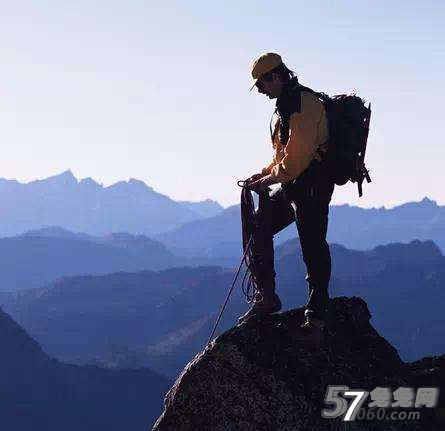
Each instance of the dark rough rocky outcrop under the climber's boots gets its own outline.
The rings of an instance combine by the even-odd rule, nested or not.
[[[378,386],[445,388],[445,356],[404,363],[370,317],[360,298],[333,299],[318,348],[298,344],[290,335],[289,328],[303,319],[302,308],[226,331],[183,370],[153,430],[443,430],[439,409],[420,409],[420,420],[410,421],[321,417],[323,408],[331,408],[324,403],[328,385],[368,391]],[[444,407],[443,394],[439,407]]]

